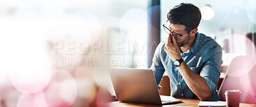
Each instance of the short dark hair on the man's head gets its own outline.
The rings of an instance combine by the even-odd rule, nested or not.
[[[167,14],[170,23],[185,25],[188,32],[198,27],[201,17],[200,9],[191,3],[180,3]]]

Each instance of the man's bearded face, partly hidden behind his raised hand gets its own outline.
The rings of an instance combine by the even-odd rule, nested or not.
[[[185,28],[186,28],[185,25],[170,24],[170,30],[172,32],[175,32],[175,33],[181,34],[181,35],[184,34],[179,39],[176,39],[177,40],[177,45],[179,47],[186,45],[188,43],[189,39],[190,39],[190,35],[189,35],[189,33],[187,33],[187,31],[185,31]],[[172,36],[172,38],[174,38],[174,37]]]

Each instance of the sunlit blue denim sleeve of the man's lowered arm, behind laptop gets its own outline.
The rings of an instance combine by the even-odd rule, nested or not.
[[[161,43],[159,43],[159,45],[156,48],[154,57],[152,59],[152,65],[150,67],[150,69],[152,69],[152,71],[154,72],[154,76],[156,79],[158,89],[161,89],[161,87],[159,86],[159,83],[161,82],[161,80],[163,78],[164,71],[165,71],[164,66],[161,62],[160,56],[161,56]]]

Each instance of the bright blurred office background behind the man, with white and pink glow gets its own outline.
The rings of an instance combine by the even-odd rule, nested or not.
[[[255,56],[254,0],[0,0],[1,106],[108,102],[108,68],[148,68],[166,14],[187,2],[202,9],[198,32],[222,46],[223,64]]]

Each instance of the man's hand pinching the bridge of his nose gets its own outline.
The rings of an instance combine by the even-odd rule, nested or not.
[[[176,38],[173,38],[171,34],[168,36],[168,40],[165,43],[164,51],[171,57],[172,61],[176,59],[181,59],[180,49],[177,45]]]

